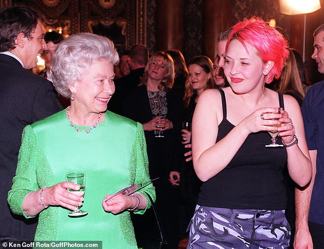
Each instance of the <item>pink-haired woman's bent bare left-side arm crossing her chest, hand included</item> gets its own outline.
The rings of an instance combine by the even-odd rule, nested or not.
[[[267,125],[276,122],[260,118],[262,113],[274,112],[273,108],[263,107],[257,109],[216,143],[218,119],[221,119],[219,113],[222,113],[220,99],[221,96],[218,90],[205,90],[199,97],[193,117],[193,163],[197,176],[202,181],[210,179],[223,170],[233,159],[250,133],[260,130],[273,130],[273,127]],[[273,118],[272,116],[270,118]],[[224,154],[226,156],[223,156]]]

